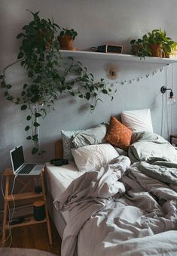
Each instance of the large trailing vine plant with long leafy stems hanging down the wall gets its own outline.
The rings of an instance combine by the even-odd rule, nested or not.
[[[57,31],[60,26],[53,20],[41,19],[39,11],[32,14],[32,21],[23,26],[22,32],[17,35],[20,39],[20,51],[17,60],[6,66],[0,76],[4,95],[12,103],[20,104],[22,111],[27,110],[25,131],[27,140],[32,140],[32,154],[41,155],[38,128],[41,125],[38,119],[43,118],[53,109],[54,101],[60,94],[70,94],[85,100],[90,100],[90,109],[93,111],[100,93],[107,94],[113,100],[111,88],[108,88],[104,79],[94,81],[92,73],[87,72],[81,62],[72,57],[66,61],[60,53],[60,44],[57,40]],[[26,82],[18,97],[11,94],[13,85],[7,82],[7,69],[20,63],[26,69]],[[73,79],[69,75],[77,74]]]

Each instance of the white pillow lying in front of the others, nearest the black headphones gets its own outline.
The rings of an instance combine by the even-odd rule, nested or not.
[[[72,156],[79,171],[98,171],[102,165],[107,164],[119,154],[109,143],[102,143],[72,149]]]

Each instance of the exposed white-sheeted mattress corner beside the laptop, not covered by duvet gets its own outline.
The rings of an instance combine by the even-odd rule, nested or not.
[[[53,198],[53,201],[63,193],[72,180],[81,176],[83,172],[78,171],[75,162],[70,161],[68,165],[54,166],[46,164],[47,168],[47,190]],[[69,220],[69,211],[61,212],[66,223]]]

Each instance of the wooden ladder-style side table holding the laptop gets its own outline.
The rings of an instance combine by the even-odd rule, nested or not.
[[[52,245],[50,221],[49,221],[49,214],[47,211],[47,199],[46,199],[45,186],[44,186],[44,170],[41,170],[41,174],[40,174],[41,188],[42,188],[41,193],[29,192],[29,193],[17,193],[17,194],[11,195],[9,194],[9,182],[10,182],[10,179],[14,177],[12,169],[6,168],[5,173],[3,175],[5,176],[5,208],[4,208],[4,216],[3,216],[3,224],[2,224],[2,246],[5,245],[6,230],[8,230],[9,228],[11,229],[14,227],[29,226],[29,225],[41,224],[41,223],[47,224],[48,238],[49,238],[50,245]],[[30,216],[30,220],[28,222],[9,225],[7,220],[8,220],[8,208],[10,208],[10,205],[9,205],[10,202],[18,201],[18,200],[26,200],[26,199],[32,199],[32,200],[34,199],[34,201],[38,199],[44,200],[46,217],[42,221],[35,221],[32,215]]]

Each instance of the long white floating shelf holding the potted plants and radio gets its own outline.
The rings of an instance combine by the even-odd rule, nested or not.
[[[60,53],[64,57],[75,57],[79,59],[93,59],[93,60],[117,60],[117,61],[133,61],[140,63],[158,63],[158,64],[170,64],[177,62],[177,59],[160,58],[160,57],[140,57],[131,54],[110,54],[95,51],[69,51],[60,50]]]

